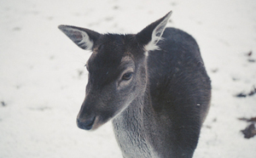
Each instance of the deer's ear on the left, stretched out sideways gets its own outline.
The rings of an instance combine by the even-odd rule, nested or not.
[[[93,44],[101,36],[101,34],[96,31],[90,31],[89,29],[71,25],[59,25],[58,28],[74,43],[76,43],[79,48],[83,48],[85,50],[91,50]]]

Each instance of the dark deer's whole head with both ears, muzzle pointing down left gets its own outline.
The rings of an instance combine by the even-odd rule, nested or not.
[[[79,48],[92,51],[84,103],[77,123],[94,130],[125,110],[147,87],[147,54],[157,49],[172,12],[137,34],[101,34],[96,31],[60,25]]]

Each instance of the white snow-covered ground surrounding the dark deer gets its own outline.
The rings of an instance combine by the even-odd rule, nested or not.
[[[171,9],[168,25],[195,37],[212,78],[195,157],[256,157],[256,137],[243,138],[247,123],[237,120],[256,116],[256,94],[235,97],[256,87],[255,0],[8,0],[0,1],[0,158],[121,157],[110,123],[94,133],[76,127],[90,53],[57,25],[135,33]]]

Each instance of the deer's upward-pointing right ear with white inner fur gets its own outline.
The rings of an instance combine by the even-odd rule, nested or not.
[[[160,20],[154,21],[154,23],[148,25],[143,31],[137,33],[137,42],[143,45],[146,51],[157,49],[156,43],[160,41],[163,32],[166,29],[166,24],[170,19],[172,11],[166,14]]]

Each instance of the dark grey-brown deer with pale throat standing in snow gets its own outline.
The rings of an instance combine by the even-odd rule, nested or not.
[[[137,34],[58,26],[91,52],[78,127],[94,131],[112,121],[125,158],[193,157],[210,108],[200,48],[185,31],[166,27],[171,14]]]

